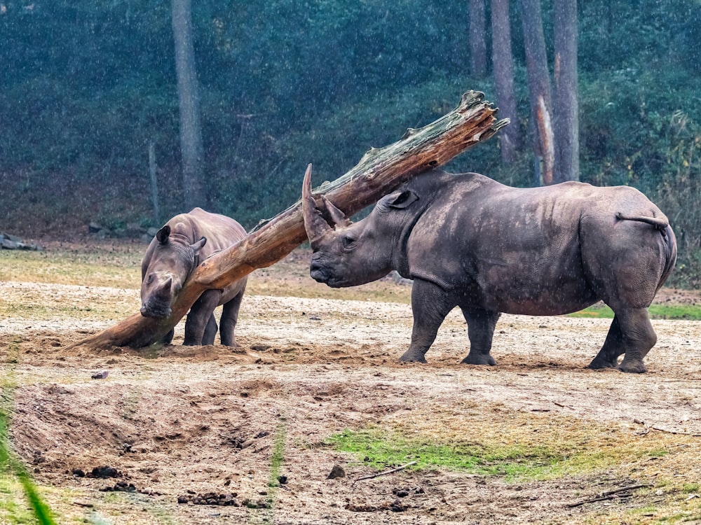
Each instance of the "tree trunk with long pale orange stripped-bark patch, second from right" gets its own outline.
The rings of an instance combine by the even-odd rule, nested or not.
[[[531,102],[533,151],[543,162],[542,183],[551,184],[555,162],[552,91],[550,75],[547,71],[543,17],[540,10],[540,0],[520,0],[520,3]]]

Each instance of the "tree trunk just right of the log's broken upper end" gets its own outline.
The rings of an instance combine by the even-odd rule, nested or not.
[[[491,57],[499,115],[511,120],[501,133],[501,160],[509,164],[521,147],[521,130],[514,93],[514,58],[511,51],[509,0],[491,0]]]

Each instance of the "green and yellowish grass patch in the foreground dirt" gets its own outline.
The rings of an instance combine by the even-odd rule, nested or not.
[[[494,416],[494,414],[492,414]],[[557,479],[660,458],[667,449],[596,423],[534,414],[428,414],[346,429],[327,444],[385,470],[453,470],[507,481]]]

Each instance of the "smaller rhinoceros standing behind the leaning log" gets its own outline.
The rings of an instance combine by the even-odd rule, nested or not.
[[[170,305],[200,262],[229,248],[245,235],[243,227],[233,219],[200,208],[170,219],[158,230],[142,260],[142,316],[169,316]],[[200,295],[187,314],[184,344],[214,344],[217,321],[213,312],[223,304],[219,335],[222,344],[237,346],[233,330],[245,288],[244,278],[223,290],[206,290]],[[170,330],[163,342],[170,343],[172,337]]]

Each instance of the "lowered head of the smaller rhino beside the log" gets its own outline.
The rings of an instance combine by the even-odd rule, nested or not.
[[[154,246],[148,264],[142,265],[141,314],[144,317],[170,315],[170,305],[195,268],[196,256],[207,242],[202,237],[190,244],[183,235],[171,237],[170,234],[169,225],[158,230],[158,244]]]

